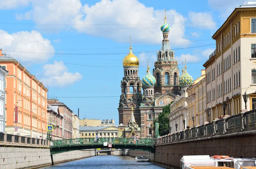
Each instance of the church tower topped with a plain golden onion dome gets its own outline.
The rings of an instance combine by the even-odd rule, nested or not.
[[[132,53],[123,59],[124,77],[121,80],[121,95],[119,100],[119,124],[128,125],[134,113],[134,119],[140,125],[140,103],[142,102],[142,83],[139,75],[139,59]],[[134,110],[134,112],[132,111]],[[133,112],[133,113],[132,113]]]

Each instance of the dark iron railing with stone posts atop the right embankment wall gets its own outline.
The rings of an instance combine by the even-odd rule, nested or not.
[[[174,143],[177,141],[193,140],[248,130],[256,130],[256,109],[232,116],[225,115],[222,119],[215,119],[211,123],[205,122],[205,124],[201,126],[195,126],[191,129],[184,129],[162,136],[157,138],[155,143],[156,145]],[[167,136],[169,139],[166,139]]]

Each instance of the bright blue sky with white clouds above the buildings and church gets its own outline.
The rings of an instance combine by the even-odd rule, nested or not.
[[[48,98],[65,103],[82,118],[113,119],[129,52],[147,60],[152,73],[171,26],[175,59],[194,80],[215,50],[212,35],[245,0],[0,0],[0,48],[49,89]],[[251,0],[250,0],[251,1]]]

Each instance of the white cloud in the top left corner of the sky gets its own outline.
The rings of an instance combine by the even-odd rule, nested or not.
[[[12,9],[27,6],[31,0],[1,0],[0,9]]]

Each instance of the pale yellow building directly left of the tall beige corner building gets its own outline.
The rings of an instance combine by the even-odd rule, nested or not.
[[[194,83],[186,90],[188,97],[188,126],[192,127],[194,124],[202,125],[207,121],[206,110],[206,80],[205,70],[201,70],[201,76],[194,80]],[[192,117],[195,117],[193,123]]]

